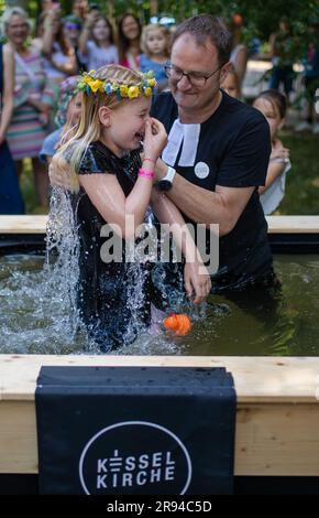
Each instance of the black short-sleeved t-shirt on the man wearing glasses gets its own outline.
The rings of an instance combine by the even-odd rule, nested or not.
[[[270,128],[264,116],[222,91],[220,106],[198,128],[198,141],[193,142],[195,149],[190,153],[185,149],[187,142],[178,142],[173,130],[169,136],[173,125],[178,125],[175,122],[177,105],[172,94],[155,98],[152,116],[164,123],[168,145],[169,139],[177,141],[175,144],[179,149],[175,157],[173,152],[169,165],[186,180],[209,191],[215,191],[216,185],[256,187],[234,228],[220,238],[219,270],[212,278],[215,291],[241,288],[271,273],[267,224],[257,194],[257,187],[265,184],[271,154]],[[174,142],[170,143],[174,147]],[[184,217],[186,222],[195,223],[185,214]]]

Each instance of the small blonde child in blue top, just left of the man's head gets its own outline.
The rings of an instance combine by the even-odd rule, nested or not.
[[[153,71],[157,82],[157,90],[167,86],[164,65],[169,57],[168,30],[163,25],[146,25],[142,32],[141,72]]]

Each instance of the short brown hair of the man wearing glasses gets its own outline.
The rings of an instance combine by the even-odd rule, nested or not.
[[[199,14],[185,20],[174,32],[172,46],[185,33],[191,34],[198,45],[205,45],[207,39],[209,39],[218,51],[220,66],[229,61],[232,36],[222,18]]]

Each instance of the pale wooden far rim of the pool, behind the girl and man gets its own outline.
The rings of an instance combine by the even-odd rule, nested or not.
[[[270,234],[319,234],[319,216],[267,216]],[[0,216],[1,234],[45,234],[47,216]]]

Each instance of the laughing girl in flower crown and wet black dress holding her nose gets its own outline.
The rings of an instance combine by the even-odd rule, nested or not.
[[[188,295],[195,292],[195,302],[201,302],[210,291],[209,274],[190,234],[182,233],[180,213],[153,190],[153,170],[166,143],[163,125],[148,116],[154,86],[150,75],[119,65],[84,75],[78,130],[53,159],[53,169],[65,169],[77,191],[73,206],[80,240],[78,305],[102,350],[132,342],[141,326],[150,325],[152,293],[150,262],[129,263],[122,250],[117,261],[105,253],[106,223],[132,240],[152,198],[161,222],[177,224],[172,233],[186,258]]]

